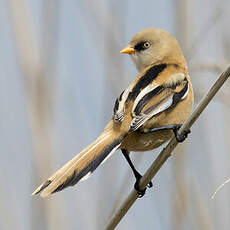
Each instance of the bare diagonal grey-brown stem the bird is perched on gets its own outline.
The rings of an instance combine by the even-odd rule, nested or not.
[[[182,127],[179,130],[179,135],[190,129],[190,127],[198,119],[200,114],[203,112],[203,110],[206,108],[209,102],[213,99],[213,97],[216,95],[218,90],[221,88],[221,86],[224,84],[224,82],[228,79],[229,76],[230,76],[230,66],[226,69],[225,72],[223,72],[219,76],[215,84],[204,96],[204,98],[201,100],[200,104],[193,111],[191,116],[182,125]],[[171,156],[171,153],[175,149],[177,144],[178,142],[176,141],[176,138],[173,137],[171,141],[168,143],[168,145],[160,152],[156,160],[152,163],[152,165],[148,168],[148,170],[142,177],[140,181],[141,189],[144,189],[149,183],[149,181],[153,179],[153,177],[160,170],[160,168],[163,166],[166,160]],[[133,203],[136,201],[137,198],[138,198],[138,194],[136,190],[133,189],[129,194],[129,196],[124,201],[124,203],[121,205],[120,209],[118,209],[118,211],[114,214],[113,218],[110,220],[109,224],[106,227],[106,230],[112,230],[118,225],[118,223],[125,216],[125,214],[131,208],[131,206],[133,205]]]

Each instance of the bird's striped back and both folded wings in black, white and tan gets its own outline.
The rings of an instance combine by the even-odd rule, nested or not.
[[[177,65],[151,66],[117,98],[113,119],[122,122],[126,105],[132,103],[130,131],[135,131],[153,116],[173,109],[188,92],[186,73]]]

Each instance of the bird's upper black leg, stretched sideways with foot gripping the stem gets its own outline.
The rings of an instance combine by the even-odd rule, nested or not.
[[[160,131],[160,130],[173,130],[173,133],[177,139],[178,142],[183,142],[187,137],[188,134],[191,133],[190,130],[185,131],[182,134],[178,134],[178,131],[180,129],[180,127],[182,126],[182,124],[173,124],[173,125],[167,125],[167,126],[162,126],[162,127],[158,127],[158,128],[151,128],[145,131],[139,131],[141,133],[152,133],[152,132],[156,132],[156,131]]]

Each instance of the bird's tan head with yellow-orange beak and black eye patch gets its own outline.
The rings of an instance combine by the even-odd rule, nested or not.
[[[120,52],[130,54],[139,71],[158,62],[185,64],[176,39],[167,31],[158,28],[137,32],[129,45]]]

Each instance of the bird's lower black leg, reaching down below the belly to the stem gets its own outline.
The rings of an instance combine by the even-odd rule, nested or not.
[[[122,149],[121,151],[122,151],[125,159],[129,163],[129,166],[131,167],[131,169],[133,171],[133,174],[134,174],[134,176],[136,178],[136,182],[134,184],[134,188],[135,188],[135,190],[138,193],[138,197],[140,198],[140,197],[142,197],[142,196],[145,195],[145,191],[146,191],[146,188],[140,189],[140,187],[139,187],[139,182],[140,182],[140,179],[142,178],[142,175],[134,167],[134,165],[133,165],[133,163],[132,163],[132,161],[131,161],[131,159],[129,157],[129,152],[127,150],[125,150],[125,149]],[[148,187],[151,188],[152,186],[153,186],[153,183],[152,183],[152,181],[150,181],[149,184],[148,184]]]

